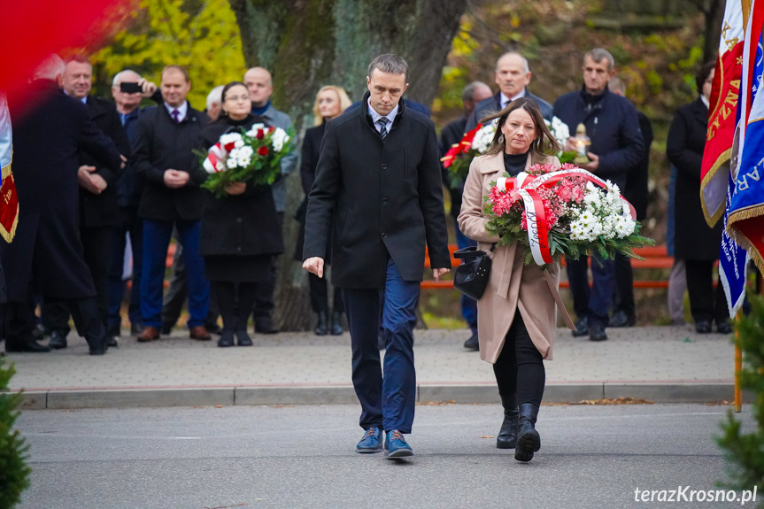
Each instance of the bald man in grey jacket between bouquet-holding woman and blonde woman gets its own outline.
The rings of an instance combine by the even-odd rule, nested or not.
[[[259,115],[272,127],[281,127],[285,131],[294,127],[292,120],[284,112],[276,110],[271,104],[271,95],[274,93],[274,83],[271,73],[264,67],[252,67],[244,73],[244,84],[250,91],[252,101],[252,114]],[[297,151],[282,158],[282,177],[291,174],[297,166]],[[283,178],[274,182],[274,203],[278,212],[280,227],[284,224],[284,211],[286,210],[287,189]],[[274,289],[276,286],[276,259],[274,257],[271,272],[267,281],[259,282],[257,299],[253,311],[255,319],[255,331],[263,334],[275,334],[278,330],[271,319],[274,310]]]

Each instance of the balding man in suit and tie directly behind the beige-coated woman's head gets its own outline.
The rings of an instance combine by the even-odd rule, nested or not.
[[[475,106],[475,110],[467,119],[465,131],[473,130],[484,117],[490,113],[500,112],[507,104],[515,99],[528,97],[538,104],[538,109],[544,119],[552,121],[552,104],[547,103],[539,96],[531,94],[528,90],[532,73],[528,66],[528,60],[517,51],[508,51],[496,61],[495,80],[498,85],[498,94],[482,100]]]

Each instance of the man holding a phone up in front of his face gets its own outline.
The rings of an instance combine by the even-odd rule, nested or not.
[[[127,91],[122,91],[123,85]],[[137,91],[140,89],[140,91]],[[132,91],[136,90],[136,91]],[[146,112],[141,108],[144,98],[151,98],[157,103],[162,102],[155,83],[143,79],[139,73],[125,69],[117,73],[112,80],[112,97],[117,105],[120,123],[125,129],[130,146],[135,146],[135,126],[138,119]],[[132,148],[131,148],[132,151]],[[112,235],[112,261],[109,266],[109,329],[112,335],[120,335],[120,305],[125,291],[122,281],[123,261],[127,235],[133,253],[133,289],[130,292],[130,305],[127,317],[130,320],[130,335],[143,332],[143,317],[141,316],[141,273],[143,272],[143,220],[138,217],[138,204],[141,201],[141,180],[135,175],[135,166],[128,162],[125,171],[117,181],[117,201],[120,205],[120,219]]]

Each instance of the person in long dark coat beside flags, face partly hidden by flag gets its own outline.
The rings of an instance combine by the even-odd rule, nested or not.
[[[722,221],[708,228],[700,206],[700,165],[706,146],[708,97],[714,81],[714,63],[700,68],[695,78],[698,99],[680,107],[668,130],[666,153],[676,167],[675,258],[683,259],[687,273],[690,309],[699,333],[729,334],[729,312],[720,282],[714,291],[714,262],[722,246]]]

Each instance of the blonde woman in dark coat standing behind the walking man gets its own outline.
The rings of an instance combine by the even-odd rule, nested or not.
[[[324,129],[328,120],[340,116],[351,105],[351,100],[341,87],[328,85],[319,90],[316,96],[316,102],[313,104],[313,114],[315,115],[316,127],[311,127],[305,131],[303,140],[303,155],[300,163],[300,177],[303,181],[303,190],[305,191],[305,201],[297,210],[297,220],[300,221],[300,233],[297,236],[297,246],[295,249],[295,259],[303,261],[303,241],[305,239],[305,212],[308,208],[308,195],[313,187],[313,180],[316,176],[316,166],[319,164],[319,150],[321,140],[324,137]],[[328,260],[331,258],[327,246]],[[316,313],[316,335],[326,335],[331,332],[332,335],[341,335],[343,333],[342,314],[343,298],[340,289],[335,288],[334,303],[332,305],[331,325],[328,324],[328,297],[327,297],[327,279],[320,278],[316,274],[308,274],[308,284],[311,292],[311,307]]]

